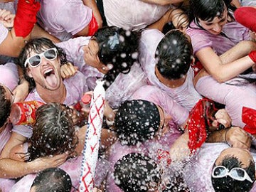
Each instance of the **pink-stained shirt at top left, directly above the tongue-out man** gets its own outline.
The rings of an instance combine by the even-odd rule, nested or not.
[[[92,19],[92,9],[81,0],[41,0],[40,4],[39,25],[61,41],[74,36]]]

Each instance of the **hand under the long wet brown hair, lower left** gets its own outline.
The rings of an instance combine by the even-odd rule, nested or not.
[[[52,157],[50,156],[40,157],[38,159],[31,161],[30,163],[33,166],[33,170],[35,172],[38,172],[50,167],[60,166],[66,161],[67,158],[68,158],[68,153],[64,153],[64,154],[58,154]]]

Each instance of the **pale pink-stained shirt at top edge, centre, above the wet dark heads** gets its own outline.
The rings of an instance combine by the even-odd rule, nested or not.
[[[108,26],[138,30],[159,20],[170,6],[140,0],[103,0],[103,7]]]

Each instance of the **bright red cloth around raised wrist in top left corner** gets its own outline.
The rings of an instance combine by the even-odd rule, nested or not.
[[[14,30],[16,36],[25,38],[31,33],[36,23],[36,14],[39,9],[39,2],[33,0],[18,0],[17,12],[14,18]]]

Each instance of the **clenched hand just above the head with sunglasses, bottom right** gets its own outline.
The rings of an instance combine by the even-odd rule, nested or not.
[[[241,148],[241,149],[250,149],[251,138],[240,127],[231,127],[225,132],[225,141],[232,147]]]

